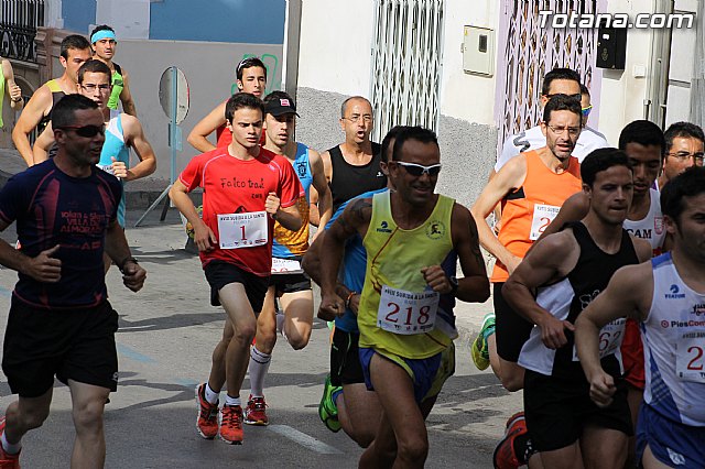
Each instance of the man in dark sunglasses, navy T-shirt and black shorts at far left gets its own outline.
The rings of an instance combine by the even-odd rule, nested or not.
[[[19,400],[0,418],[3,468],[19,467],[22,436],[48,416],[54,377],[72,395],[70,466],[104,466],[104,406],[118,379],[118,314],[107,299],[104,253],[129,290],[138,292],[147,276],[117,222],[122,187],[96,168],[105,140],[98,107],[66,96],[54,106],[52,123],[56,156],[17,174],[0,192],[0,230],[17,221],[22,243],[15,250],[0,241],[0,263],[19,272],[2,356]]]

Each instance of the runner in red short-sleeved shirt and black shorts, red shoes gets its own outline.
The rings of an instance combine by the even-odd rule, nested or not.
[[[170,197],[194,227],[194,242],[210,284],[210,303],[226,312],[223,339],[213,352],[207,383],[196,388],[198,433],[218,433],[229,444],[242,443],[240,386],[257,330],[257,314],[269,286],[274,220],[299,230],[296,200],[304,195],[284,156],[259,145],[263,105],[253,95],[234,95],[226,105],[232,142],[195,156],[178,176]],[[203,219],[187,193],[203,187]],[[218,395],[227,394],[218,425]]]

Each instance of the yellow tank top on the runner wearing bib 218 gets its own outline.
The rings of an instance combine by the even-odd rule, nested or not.
[[[403,230],[392,218],[390,193],[376,194],[372,198],[372,218],[362,240],[367,250],[367,271],[357,319],[360,347],[373,348],[382,355],[423,359],[451,345],[448,336],[437,328],[414,335],[384,330],[378,325],[378,310],[386,286],[413,293],[431,291],[421,269],[440,265],[453,250],[451,215],[454,203],[454,199],[438,195],[426,221],[412,230]],[[388,305],[382,305],[382,317],[391,312],[386,309]],[[403,309],[390,318],[403,323]],[[436,324],[440,320],[436,317]]]

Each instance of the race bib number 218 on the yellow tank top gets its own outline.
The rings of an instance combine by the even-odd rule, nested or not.
[[[377,310],[377,327],[410,336],[433,330],[438,312],[437,292],[413,293],[382,286]]]

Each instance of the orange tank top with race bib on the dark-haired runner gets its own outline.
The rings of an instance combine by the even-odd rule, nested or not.
[[[581,165],[573,156],[567,170],[561,174],[551,171],[535,150],[517,157],[527,160],[527,176],[520,188],[502,199],[498,239],[509,252],[523,259],[565,199],[582,189],[582,182]],[[508,277],[507,268],[497,261],[490,282],[505,282]]]

